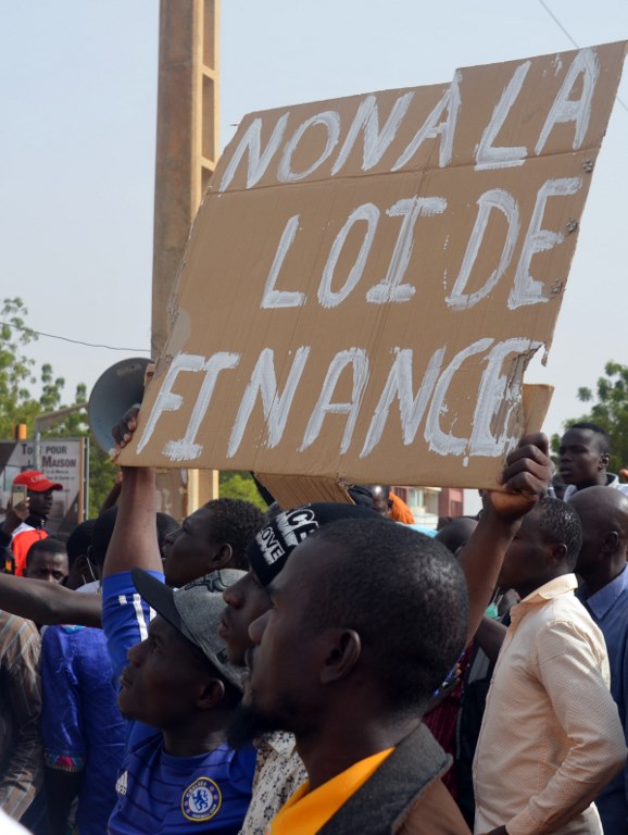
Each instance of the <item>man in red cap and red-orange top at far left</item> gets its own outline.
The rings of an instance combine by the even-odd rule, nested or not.
[[[52,494],[62,490],[63,485],[51,482],[39,470],[25,470],[13,479],[13,486],[27,488],[23,507],[10,508],[0,527],[0,549],[5,565],[13,563],[12,573],[24,574],[26,553],[33,543],[46,539],[46,522],[52,509]]]

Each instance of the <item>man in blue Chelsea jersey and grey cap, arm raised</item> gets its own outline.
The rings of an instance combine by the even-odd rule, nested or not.
[[[114,672],[122,670],[118,705],[137,720],[109,832],[236,835],[255,750],[225,744],[241,685],[216,635],[223,603],[203,579],[178,591],[164,585],[155,496],[154,471],[125,469],[103,571],[103,628]],[[150,625],[149,608],[158,613]],[[140,734],[139,723],[156,730]]]

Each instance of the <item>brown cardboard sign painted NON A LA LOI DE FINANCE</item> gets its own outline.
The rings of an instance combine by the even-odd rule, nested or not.
[[[126,464],[494,486],[550,348],[625,43],[253,113]]]

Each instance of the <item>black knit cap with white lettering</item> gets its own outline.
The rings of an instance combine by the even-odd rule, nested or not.
[[[291,551],[323,525],[340,519],[381,519],[379,513],[360,504],[330,501],[303,504],[287,510],[263,527],[247,547],[251,570],[263,586],[281,571]]]

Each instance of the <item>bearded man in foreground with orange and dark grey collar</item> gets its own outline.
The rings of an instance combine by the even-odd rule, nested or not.
[[[268,832],[409,833],[420,821],[423,833],[466,833],[438,780],[449,759],[420,723],[466,637],[454,558],[391,521],[341,520],[298,545],[267,590],[241,723],[293,732],[309,774]]]

